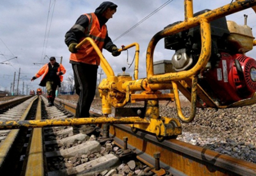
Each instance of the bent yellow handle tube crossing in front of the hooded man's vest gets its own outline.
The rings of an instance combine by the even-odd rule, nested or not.
[[[102,55],[101,50],[98,48],[98,46],[96,45],[96,43],[95,43],[95,41],[93,39],[91,39],[91,38],[83,39],[82,42],[80,42],[76,46],[76,49],[79,49],[86,42],[90,42],[92,47],[95,49],[97,55],[99,55],[99,57],[100,57],[100,66],[102,67],[102,69],[105,72],[106,76],[107,77],[114,76],[114,72],[113,72],[112,67],[109,65],[109,63],[107,62],[105,57]]]

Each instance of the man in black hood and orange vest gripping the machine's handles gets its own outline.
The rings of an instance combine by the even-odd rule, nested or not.
[[[113,2],[102,2],[94,13],[81,15],[75,25],[66,32],[65,43],[69,48],[70,62],[75,78],[76,94],[79,96],[75,117],[90,117],[89,110],[95,97],[97,69],[100,57],[90,43],[85,43],[79,50],[75,47],[86,37],[92,38],[99,49],[106,49],[113,56],[119,56],[118,48],[107,33],[106,22],[113,17],[117,5]],[[79,133],[79,127],[73,130]]]

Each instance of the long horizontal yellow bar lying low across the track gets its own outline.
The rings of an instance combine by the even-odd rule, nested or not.
[[[66,118],[59,120],[22,120],[22,121],[1,121],[0,130],[26,128],[42,128],[57,126],[76,126],[83,124],[105,124],[105,123],[122,123],[122,124],[142,124],[149,121],[140,117],[89,117],[89,118]]]

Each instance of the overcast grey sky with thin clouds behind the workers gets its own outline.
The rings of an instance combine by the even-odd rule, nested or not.
[[[83,13],[94,12],[103,1],[98,0],[1,0],[0,2],[0,90],[10,90],[11,83],[18,80],[19,68],[21,75],[19,80],[19,90],[22,91],[24,82],[24,93],[26,85],[35,90],[39,86],[41,77],[31,82],[30,79],[43,66],[40,63],[48,63],[50,56],[55,56],[67,72],[64,80],[73,74],[69,63],[70,52],[65,45],[65,33],[73,26],[76,19]],[[112,40],[117,39],[124,32],[140,22],[140,25],[117,39],[114,44],[117,47],[129,45],[137,42],[140,46],[139,55],[139,78],[146,77],[146,50],[150,39],[165,26],[184,20],[184,1],[181,0],[129,0],[112,1],[118,5],[117,12],[106,25]],[[215,9],[230,3],[231,0],[194,0],[194,12],[202,9]],[[142,22],[150,13],[160,6],[163,8],[154,13]],[[255,35],[256,15],[252,9],[227,16],[228,20],[244,24],[244,14],[248,15],[248,26],[252,28]],[[164,49],[163,39],[159,41],[154,50],[154,61],[170,60],[173,51]],[[103,55],[112,66],[115,75],[122,72],[122,67],[126,67],[128,73],[133,76],[134,63],[128,69],[127,52],[122,52],[120,56],[113,57],[111,53],[103,49]],[[250,57],[255,57],[253,51],[247,53]],[[17,57],[15,59],[12,59]],[[134,48],[129,50],[128,62],[132,63]],[[35,63],[35,64],[34,64]],[[98,72],[100,73],[100,67]],[[105,74],[102,75],[102,78]],[[99,79],[99,75],[98,75]],[[15,81],[15,89],[17,81]]]

